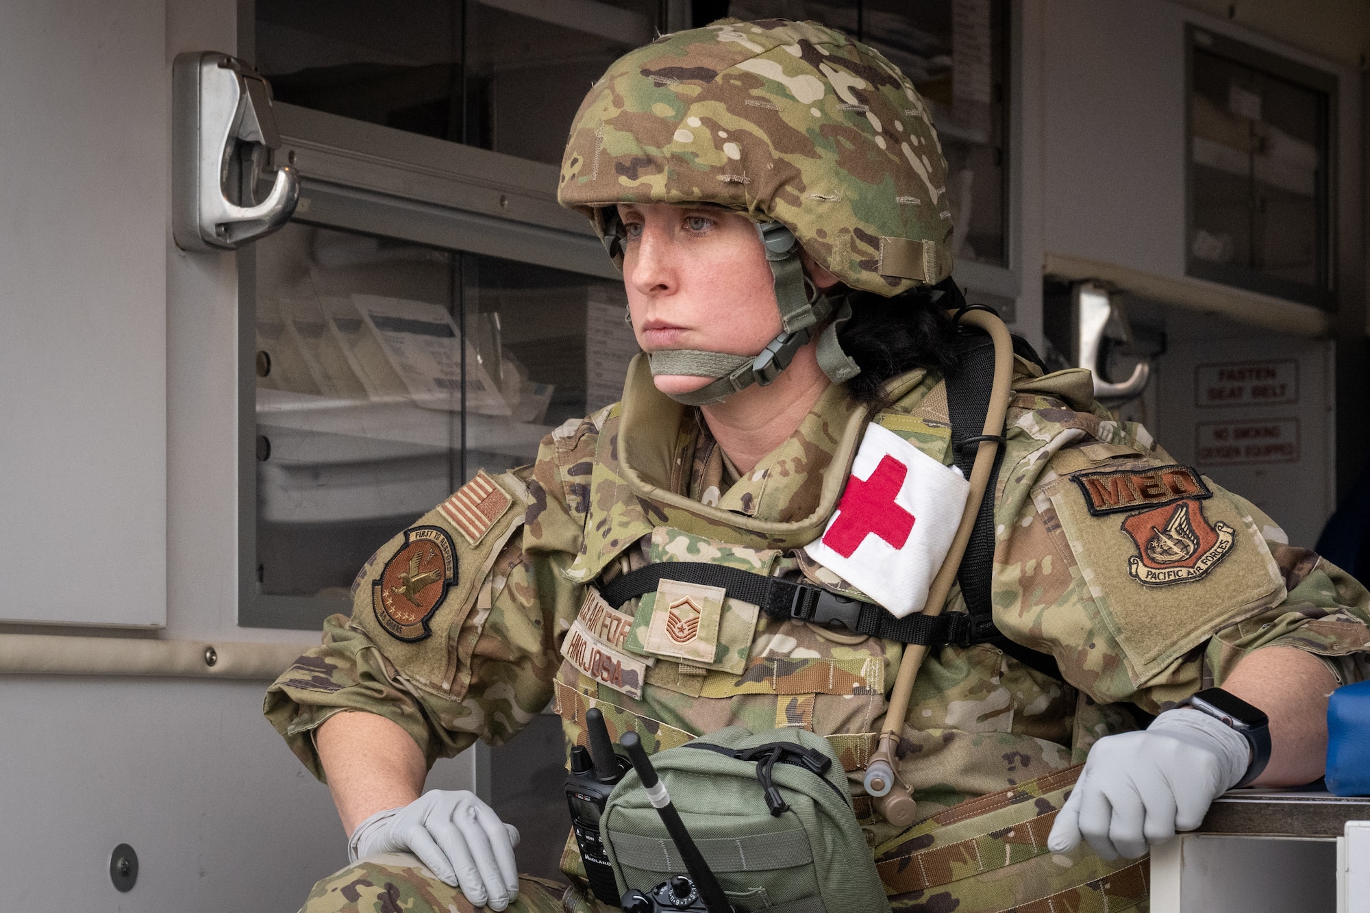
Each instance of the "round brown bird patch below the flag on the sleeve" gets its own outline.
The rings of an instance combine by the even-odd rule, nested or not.
[[[456,550],[441,526],[404,531],[404,546],[371,584],[371,609],[396,640],[423,640],[429,618],[456,583]]]

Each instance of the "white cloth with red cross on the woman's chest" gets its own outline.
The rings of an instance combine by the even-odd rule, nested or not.
[[[969,495],[960,472],[871,424],[837,513],[804,551],[903,618],[927,602]]]

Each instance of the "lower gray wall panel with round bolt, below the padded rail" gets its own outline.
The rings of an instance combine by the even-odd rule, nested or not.
[[[299,909],[347,864],[327,787],[262,717],[263,683],[0,679],[5,910]],[[470,762],[429,787],[469,788]],[[110,881],[138,853],[129,894]]]

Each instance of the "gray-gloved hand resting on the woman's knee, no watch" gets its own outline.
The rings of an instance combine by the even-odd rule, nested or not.
[[[475,906],[503,910],[518,897],[518,828],[466,790],[425,792],[377,812],[348,840],[352,862],[377,853],[412,853]]]

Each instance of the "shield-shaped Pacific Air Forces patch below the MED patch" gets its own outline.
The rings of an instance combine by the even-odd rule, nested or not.
[[[1122,531],[1137,546],[1128,573],[1147,587],[1199,580],[1232,552],[1234,541],[1233,528],[1221,520],[1210,524],[1195,499],[1133,514]]]

